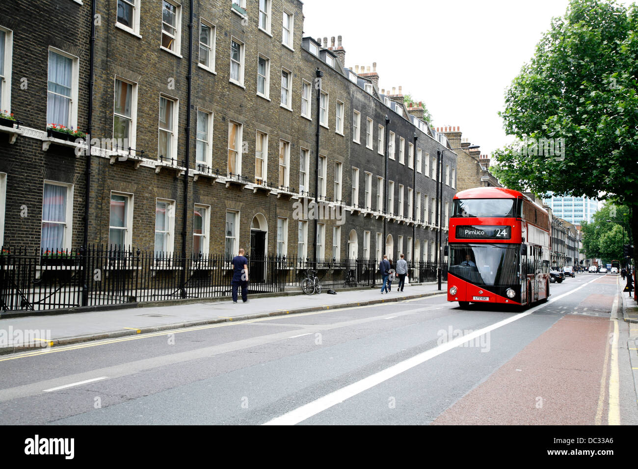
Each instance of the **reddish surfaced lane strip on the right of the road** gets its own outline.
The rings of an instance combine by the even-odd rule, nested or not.
[[[608,301],[593,296],[581,305]],[[593,425],[597,412],[606,424],[612,327],[609,317],[563,316],[432,424]]]

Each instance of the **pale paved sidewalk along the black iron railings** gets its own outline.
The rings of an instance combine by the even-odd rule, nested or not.
[[[18,316],[0,319],[0,354],[43,346],[68,345],[179,327],[215,324],[264,316],[286,315],[348,306],[366,306],[436,295],[436,283],[408,285],[404,291],[380,294],[380,288],[349,290],[336,295],[288,295],[251,298],[248,303],[223,301],[190,302],[170,306],[101,309],[82,313]],[[396,287],[393,285],[393,287]]]

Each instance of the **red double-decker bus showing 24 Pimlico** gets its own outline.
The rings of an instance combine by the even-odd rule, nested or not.
[[[529,305],[549,297],[549,214],[519,191],[454,196],[447,300]]]

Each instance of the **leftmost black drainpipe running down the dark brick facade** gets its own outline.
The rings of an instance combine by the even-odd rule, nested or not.
[[[93,82],[95,77],[95,10],[97,0],[91,2],[91,38],[89,53],[89,109],[86,124],[86,170],[85,170],[85,191],[84,191],[84,235],[82,236],[82,306],[89,304],[89,273],[86,269],[87,249],[89,248],[89,200],[91,195],[91,134],[93,133]]]

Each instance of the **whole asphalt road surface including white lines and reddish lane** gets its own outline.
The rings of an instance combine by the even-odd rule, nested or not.
[[[527,310],[438,295],[4,355],[0,423],[637,424],[616,292],[580,274]]]

